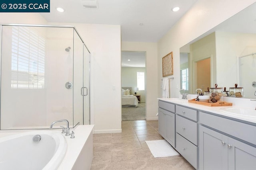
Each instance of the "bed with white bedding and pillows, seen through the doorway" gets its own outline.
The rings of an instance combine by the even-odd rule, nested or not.
[[[131,87],[122,87],[122,107],[138,107],[138,98],[131,91]]]

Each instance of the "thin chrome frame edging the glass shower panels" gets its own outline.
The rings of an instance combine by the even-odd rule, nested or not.
[[[3,31],[3,26],[26,26],[26,27],[60,27],[60,28],[73,28],[74,31],[76,31],[78,37],[80,38],[80,40],[82,41],[84,47],[86,47],[86,49],[89,52],[89,68],[88,68],[88,72],[89,72],[89,94],[91,94],[91,90],[90,90],[90,86],[91,86],[91,77],[90,77],[90,57],[91,57],[91,53],[90,50],[88,49],[88,47],[86,46],[86,43],[84,42],[84,40],[82,39],[81,35],[78,33],[77,29],[75,26],[72,25],[40,25],[40,24],[16,24],[16,23],[0,23],[0,75],[1,75],[1,71],[2,71],[2,31]],[[74,35],[74,32],[73,32]],[[74,40],[73,40],[74,41]],[[73,51],[73,55],[74,55],[74,51]],[[84,55],[84,48],[83,48],[83,55]],[[84,57],[83,57],[83,62],[84,62]],[[84,67],[84,66],[83,66]],[[74,63],[73,63],[73,68],[74,68]],[[84,74],[84,73],[83,73]],[[73,77],[73,81],[74,81],[74,77]],[[84,76],[83,76],[83,81],[84,81]],[[1,76],[0,76],[0,87],[1,87]],[[84,88],[83,88],[84,89]],[[0,88],[0,96],[1,96],[1,88]],[[89,95],[89,124],[91,124],[91,108],[90,108],[90,95]],[[74,102],[74,99],[73,99]],[[83,103],[84,103],[84,98],[83,98]],[[0,104],[1,104],[1,97],[0,97]],[[83,104],[83,110],[84,110],[84,104]],[[1,117],[1,110],[0,110],[0,117]],[[73,107],[73,121],[74,121],[74,107]],[[79,124],[79,123],[78,123]],[[78,125],[76,124],[76,125]],[[84,114],[83,114],[83,124],[84,124]],[[1,122],[0,122],[1,125]],[[74,124],[73,124],[74,125]],[[74,125],[74,126],[76,126]],[[1,126],[0,126],[1,127]],[[0,129],[2,130],[2,129]]]

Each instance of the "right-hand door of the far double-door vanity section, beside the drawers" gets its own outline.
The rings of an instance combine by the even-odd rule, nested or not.
[[[166,113],[166,141],[175,146],[175,114]]]

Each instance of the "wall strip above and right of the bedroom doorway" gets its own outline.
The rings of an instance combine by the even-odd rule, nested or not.
[[[146,51],[146,119],[157,120],[157,43],[122,41],[122,51]]]

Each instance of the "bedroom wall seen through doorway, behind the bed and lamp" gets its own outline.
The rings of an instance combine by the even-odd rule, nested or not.
[[[130,94],[134,95],[134,88],[137,87],[137,72],[145,72],[145,67],[122,67],[122,87],[132,87],[132,92]],[[146,78],[146,72],[145,72]],[[146,87],[145,82],[145,87]],[[146,89],[137,92],[140,95],[140,102],[146,102]]]

